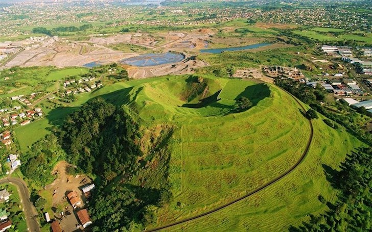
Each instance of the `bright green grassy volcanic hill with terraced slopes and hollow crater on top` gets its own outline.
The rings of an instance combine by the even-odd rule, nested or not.
[[[150,157],[144,158],[148,160],[145,169],[127,184],[158,189],[167,182],[173,193],[169,203],[154,210],[156,220],[148,228],[206,212],[262,186],[293,166],[309,139],[309,123],[300,106],[280,88],[240,79],[202,78],[166,76],[115,83],[78,95],[73,104],[55,110],[71,112],[101,96],[138,119],[144,135],[138,144]],[[253,106],[236,113],[235,102],[242,96]],[[61,122],[63,118],[56,115],[62,114],[56,113],[43,119],[48,121],[45,126]],[[317,196],[335,199],[322,165],[337,168],[361,142],[325,125],[322,118],[313,124],[308,156],[288,176],[245,200],[171,230],[282,231],[309,213],[323,211]],[[24,132],[31,125],[23,127]],[[167,142],[169,165],[162,160],[164,151],[151,151],[151,144],[159,145],[158,141]]]

